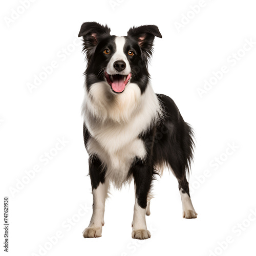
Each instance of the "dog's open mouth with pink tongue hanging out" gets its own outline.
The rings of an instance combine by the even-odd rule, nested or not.
[[[129,75],[110,75],[105,72],[106,81],[110,84],[112,90],[116,93],[123,92],[127,82],[131,78],[131,73]]]

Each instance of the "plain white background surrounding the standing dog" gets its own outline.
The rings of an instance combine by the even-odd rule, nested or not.
[[[197,14],[191,12],[190,6],[198,4],[37,0],[16,16],[19,1],[1,4],[1,212],[8,196],[9,255],[255,253],[256,217],[250,212],[256,210],[256,45],[247,52],[241,49],[246,40],[256,42],[256,6],[252,0],[205,0]],[[108,24],[114,35],[126,35],[132,26],[159,27],[163,38],[155,40],[150,66],[154,90],[172,97],[196,132],[189,181],[198,218],[182,218],[177,180],[165,172],[155,181],[151,216],[146,217],[152,238],[145,241],[131,238],[133,184],[121,191],[112,189],[102,237],[82,237],[91,218],[92,195],[80,115],[86,63],[77,35],[88,21]],[[178,31],[176,22],[187,24]],[[234,63],[232,54],[238,51],[244,56]],[[28,83],[52,61],[57,67],[30,92]],[[198,88],[203,89],[204,80],[222,66],[228,72],[200,97]],[[56,153],[53,148],[62,138],[68,143]],[[227,155],[230,145],[236,148],[229,148]],[[47,164],[42,160],[46,152],[57,154]],[[216,157],[221,162],[215,162]],[[35,165],[41,170],[28,181],[25,171]],[[202,176],[205,173],[207,177]],[[27,184],[11,193],[22,179]],[[87,205],[85,214],[81,205]],[[72,218],[71,227],[67,223]],[[56,233],[62,236],[53,245],[48,237]],[[227,237],[232,242],[222,243]],[[45,252],[39,250],[45,246]]]

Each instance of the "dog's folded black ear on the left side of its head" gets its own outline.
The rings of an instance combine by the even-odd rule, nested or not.
[[[92,50],[105,36],[110,35],[110,28],[108,26],[100,25],[97,22],[85,22],[82,24],[78,37],[83,37],[83,50]]]

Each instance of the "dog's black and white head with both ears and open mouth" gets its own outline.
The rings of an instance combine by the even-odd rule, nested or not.
[[[95,22],[83,23],[78,36],[83,37],[86,52],[87,87],[105,81],[113,93],[122,93],[131,81],[141,93],[149,74],[148,59],[152,55],[155,36],[162,37],[154,25],[131,28],[127,36],[110,35],[110,28]]]

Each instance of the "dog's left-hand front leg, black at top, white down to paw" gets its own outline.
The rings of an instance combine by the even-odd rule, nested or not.
[[[109,183],[105,181],[105,172],[97,157],[93,157],[89,172],[93,192],[93,215],[88,228],[83,230],[84,238],[101,237],[104,225],[105,199],[108,196]]]

